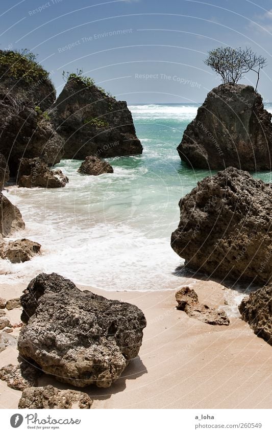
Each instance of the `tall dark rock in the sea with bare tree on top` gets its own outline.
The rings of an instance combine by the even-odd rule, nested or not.
[[[252,86],[221,84],[208,93],[177,149],[196,168],[271,170],[271,114]]]

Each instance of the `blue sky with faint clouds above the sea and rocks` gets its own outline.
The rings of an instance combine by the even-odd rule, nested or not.
[[[1,0],[0,36],[0,49],[37,54],[58,94],[63,71],[83,70],[129,104],[202,103],[220,84],[207,52],[251,47],[267,58],[258,91],[272,101],[272,0]]]

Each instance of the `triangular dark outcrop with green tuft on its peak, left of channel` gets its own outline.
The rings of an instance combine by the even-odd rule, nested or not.
[[[68,80],[54,107],[65,158],[113,157],[142,153],[126,101],[116,101],[85,78]]]

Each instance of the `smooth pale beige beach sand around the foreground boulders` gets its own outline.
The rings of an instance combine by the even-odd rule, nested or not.
[[[224,287],[213,281],[188,280],[200,302],[224,304]],[[26,285],[0,285],[6,299],[21,295]],[[86,287],[80,286],[81,289]],[[118,292],[88,287],[108,298],[143,310],[144,330],[139,357],[109,389],[82,389],[93,408],[271,408],[271,347],[239,317],[230,326],[212,326],[176,309],[175,291]],[[20,309],[8,313],[19,321]],[[13,334],[18,334],[15,330]],[[18,352],[0,353],[0,366],[16,363]],[[49,376],[40,385],[71,389]],[[21,392],[0,380],[0,408],[17,408]]]

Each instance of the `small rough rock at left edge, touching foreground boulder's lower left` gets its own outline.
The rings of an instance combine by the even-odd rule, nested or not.
[[[0,379],[6,381],[11,389],[23,391],[26,387],[37,386],[41,372],[26,361],[8,364],[0,369]]]

